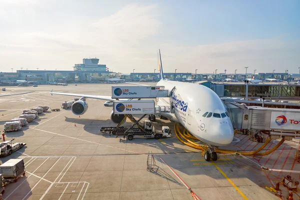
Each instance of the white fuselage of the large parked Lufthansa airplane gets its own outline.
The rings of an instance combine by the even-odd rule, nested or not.
[[[179,122],[207,144],[224,146],[231,143],[232,123],[227,115],[224,116],[226,108],[214,91],[200,84],[171,80],[160,80],[157,85],[163,85],[169,91],[175,87],[171,97],[158,98],[158,105],[174,105],[175,108],[173,114],[161,113],[162,116]],[[202,116],[205,112],[212,115]]]

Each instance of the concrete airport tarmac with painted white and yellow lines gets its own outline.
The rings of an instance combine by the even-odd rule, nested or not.
[[[149,83],[153,84],[153,83]],[[111,95],[112,84],[38,85],[38,87],[6,87],[0,93],[33,93],[0,97],[0,130],[25,108],[48,105],[60,108],[71,96],[48,92]],[[26,174],[6,185],[3,199],[193,199],[190,187],[200,199],[280,199],[265,187],[274,187],[285,175],[300,179],[299,173],[266,172],[244,158],[220,155],[206,162],[201,153],[182,144],[174,134],[174,123],[156,118],[155,129],[168,125],[172,137],[127,140],[100,133],[102,126],[113,126],[111,107],[105,100],[87,99],[89,109],[77,116],[70,109],[46,111],[5,139],[26,142],[26,146],[1,157],[23,158]],[[130,122],[126,122],[131,124]],[[251,150],[262,143],[236,134],[228,149]],[[264,150],[279,140],[272,140]],[[294,152],[299,143],[285,141],[265,156],[248,156],[263,166],[300,170]],[[155,166],[147,170],[147,155],[152,152]],[[280,185],[283,197],[288,190]],[[297,192],[299,194],[299,192]],[[294,194],[295,197],[295,194]],[[296,197],[294,199],[297,199]]]

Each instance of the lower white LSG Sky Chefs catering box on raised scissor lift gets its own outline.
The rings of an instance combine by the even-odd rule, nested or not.
[[[154,114],[154,100],[116,100],[113,102],[114,114]]]

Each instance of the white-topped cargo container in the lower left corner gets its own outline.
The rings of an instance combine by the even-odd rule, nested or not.
[[[9,159],[0,165],[3,178],[16,178],[25,171],[23,159]]]

